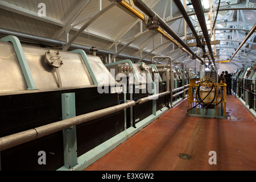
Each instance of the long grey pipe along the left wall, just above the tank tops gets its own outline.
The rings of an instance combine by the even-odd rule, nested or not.
[[[60,40],[44,38],[42,36],[26,34],[23,32],[18,32],[18,31],[13,31],[13,30],[7,30],[5,28],[0,28],[0,35],[3,35],[3,36],[13,35],[19,39],[26,40],[29,42],[32,41],[32,42],[38,43],[38,44],[45,44],[45,46],[63,46],[63,45],[65,45],[65,42],[60,41]],[[92,47],[82,46],[79,44],[71,44],[71,47],[69,47],[69,48],[70,49],[83,49],[84,51],[88,51],[88,52],[90,51],[90,49],[92,49]],[[103,49],[98,49],[97,53],[103,54],[103,55],[114,55],[115,54],[115,52],[106,51]],[[122,53],[120,53],[118,55],[118,57],[121,59],[129,59],[129,60],[140,60],[141,59],[140,57],[125,55]],[[150,62],[151,60],[143,59],[143,61]]]

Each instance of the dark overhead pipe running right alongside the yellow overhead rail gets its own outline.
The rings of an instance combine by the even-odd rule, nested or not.
[[[196,53],[194,53],[187,46],[187,44],[185,44],[183,40],[181,40],[179,36],[174,31],[172,31],[170,26],[168,26],[168,24],[164,22],[164,20],[160,18],[160,16],[156,14],[155,11],[150,9],[150,7],[148,7],[146,3],[144,3],[142,0],[133,0],[133,2],[134,5],[137,6],[140,10],[142,10],[146,15],[148,15],[149,17],[155,17],[159,22],[159,26],[162,27],[163,30],[165,30],[169,35],[171,35],[172,38],[174,38],[181,46],[183,46],[189,53],[191,53],[193,57],[199,59],[201,61],[201,64],[204,64],[204,61],[199,56],[197,56]]]

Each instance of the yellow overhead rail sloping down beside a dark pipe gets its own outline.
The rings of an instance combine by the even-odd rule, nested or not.
[[[133,13],[134,15],[138,16],[138,18],[140,18],[141,20],[144,21],[144,15],[139,12],[137,9],[135,9],[134,7],[132,7],[129,3],[127,3],[126,1],[122,1],[120,3],[120,5],[122,5],[123,7],[125,7],[127,10],[131,11],[131,13]],[[158,28],[157,30],[160,34],[162,34],[163,36],[165,36],[168,40],[170,40],[172,43],[176,44],[176,46],[179,46],[179,43],[176,42],[176,40],[174,40],[173,38],[171,38],[171,36],[169,36],[168,34],[166,34],[166,32],[164,32],[161,28]],[[181,48],[183,49],[183,51],[187,52],[189,55],[191,55],[190,52],[188,52],[184,47]]]

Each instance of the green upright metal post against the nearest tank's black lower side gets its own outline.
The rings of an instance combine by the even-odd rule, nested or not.
[[[61,95],[62,118],[68,119],[76,116],[75,93]],[[64,165],[71,169],[77,165],[76,126],[63,130]]]

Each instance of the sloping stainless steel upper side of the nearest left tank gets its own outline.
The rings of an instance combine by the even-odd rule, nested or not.
[[[27,45],[22,45],[22,49],[36,88],[39,91],[59,89],[56,68],[51,67],[45,61],[45,55],[49,49]],[[61,89],[96,86],[79,53],[59,51],[59,55],[63,61],[61,67],[57,68],[59,69],[59,77],[62,83]],[[100,57],[88,55],[88,59],[92,65],[90,69],[97,75],[97,79],[100,79],[99,76],[103,73],[107,77],[105,80],[108,80],[104,84],[109,85],[110,80],[113,81],[114,78],[105,68]],[[0,42],[0,67],[2,69],[0,72],[0,94],[27,90],[27,84],[20,68],[18,57],[13,44],[10,42]]]

